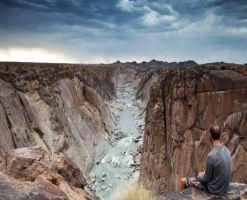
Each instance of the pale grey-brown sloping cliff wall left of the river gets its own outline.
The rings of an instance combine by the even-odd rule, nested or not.
[[[0,64],[0,147],[40,145],[63,153],[87,176],[104,155],[114,116],[107,67]]]

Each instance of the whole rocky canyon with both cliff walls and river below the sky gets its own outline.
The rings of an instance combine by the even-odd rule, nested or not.
[[[3,62],[0,121],[0,199],[108,200],[136,181],[169,199],[205,170],[213,124],[247,183],[245,65]]]

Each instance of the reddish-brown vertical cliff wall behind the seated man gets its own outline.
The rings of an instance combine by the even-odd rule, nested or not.
[[[247,182],[247,69],[212,64],[164,69],[146,109],[140,181],[158,193],[205,170],[210,125],[222,128],[232,181]]]

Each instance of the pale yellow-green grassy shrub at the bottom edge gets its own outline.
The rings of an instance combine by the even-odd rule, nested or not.
[[[114,195],[114,200],[155,200],[152,192],[146,190],[140,184],[131,184],[128,187],[119,190]]]

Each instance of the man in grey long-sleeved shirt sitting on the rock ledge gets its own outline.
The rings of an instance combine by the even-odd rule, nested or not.
[[[213,149],[207,156],[205,173],[199,173],[196,178],[183,178],[180,188],[196,187],[212,194],[222,195],[228,191],[232,161],[228,148],[220,142],[219,126],[210,128],[210,140]]]

